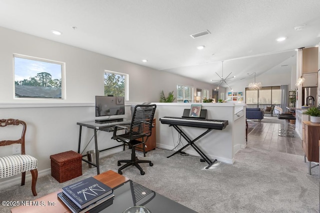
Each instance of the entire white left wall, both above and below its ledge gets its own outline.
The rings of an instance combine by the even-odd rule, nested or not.
[[[10,29],[0,27],[0,35],[0,118],[26,121],[26,152],[38,159],[39,175],[41,171],[49,171],[51,154],[77,151],[79,126],[76,122],[94,119],[94,96],[103,95],[105,69],[129,74],[125,116],[129,116],[130,103],[158,102],[162,89],[165,94],[172,90],[176,94],[177,83],[212,90],[208,83]],[[13,99],[13,53],[65,62],[66,99]],[[89,141],[92,129],[84,128],[83,131],[83,140]],[[3,136],[5,133],[0,138]],[[106,141],[103,143],[105,147],[117,143],[110,139],[108,132],[99,132],[98,137]],[[89,145],[88,149],[92,146]],[[0,156],[12,153],[12,148],[9,153],[2,150]],[[6,180],[1,179],[0,183]]]

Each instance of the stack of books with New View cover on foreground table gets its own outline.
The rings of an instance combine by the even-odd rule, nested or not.
[[[74,213],[86,212],[107,201],[112,204],[113,189],[99,180],[88,177],[62,187],[58,198]]]

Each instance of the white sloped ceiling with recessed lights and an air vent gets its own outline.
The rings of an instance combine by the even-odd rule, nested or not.
[[[208,83],[231,72],[232,85],[318,44],[320,0],[0,0],[0,26]]]

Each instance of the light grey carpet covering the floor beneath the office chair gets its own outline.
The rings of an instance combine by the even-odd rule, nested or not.
[[[319,168],[309,175],[303,156],[247,147],[236,153],[234,164],[216,162],[204,169],[206,163],[197,156],[166,158],[170,153],[151,150],[146,158],[154,165],[141,164],[145,175],[134,166],[124,169],[123,175],[197,212],[318,212]],[[100,158],[100,172],[117,171],[116,161],[129,156],[130,150],[125,150]],[[143,158],[141,152],[138,156]],[[38,178],[36,197],[30,182],[1,188],[1,201],[32,200],[96,174],[96,168],[86,163],[82,171],[82,176],[64,183],[50,175]],[[0,212],[10,208],[0,206]]]

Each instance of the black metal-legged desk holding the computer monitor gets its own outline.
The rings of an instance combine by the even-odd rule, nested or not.
[[[96,173],[99,174],[100,173],[100,169],[99,169],[99,152],[100,151],[105,151],[111,148],[115,148],[115,147],[119,147],[123,145],[123,150],[125,148],[124,144],[120,144],[120,145],[116,145],[116,146],[112,146],[109,148],[105,148],[105,149],[98,149],[98,142],[97,142],[97,136],[96,136],[96,132],[98,130],[101,131],[113,131],[114,126],[115,125],[125,125],[125,124],[129,124],[131,122],[131,120],[123,118],[123,121],[116,121],[116,122],[103,122],[103,123],[96,123],[95,121],[86,121],[86,122],[77,122],[76,124],[79,125],[79,141],[78,141],[78,153],[80,153],[80,145],[81,145],[81,132],[82,132],[82,126],[86,126],[88,128],[93,129],[93,133],[94,133],[94,148],[95,148],[95,159],[96,159],[96,163],[94,162],[90,162],[86,159],[83,159],[84,156],[86,156],[86,154],[82,155],[82,160],[95,166],[96,167]]]

